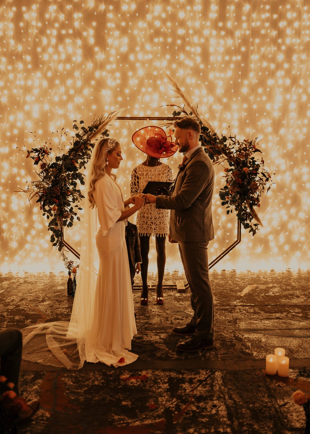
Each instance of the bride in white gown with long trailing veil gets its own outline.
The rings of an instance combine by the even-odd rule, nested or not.
[[[84,245],[80,281],[71,319],[23,329],[23,358],[26,360],[76,369],[85,361],[102,362],[116,368],[138,358],[129,351],[137,329],[124,222],[142,207],[144,198],[136,195],[123,201],[116,176],[111,173],[112,169],[119,168],[122,159],[121,146],[114,138],[98,141],[92,151],[86,181],[88,205],[81,234]],[[133,206],[125,210],[129,204]]]

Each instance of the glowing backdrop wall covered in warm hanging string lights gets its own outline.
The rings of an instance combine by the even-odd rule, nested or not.
[[[258,210],[264,228],[242,241],[218,269],[307,268],[309,263],[309,1],[299,0],[6,0],[0,6],[1,267],[62,268],[51,250],[47,221],[26,194],[35,179],[25,153],[31,131],[44,144],[72,121],[125,107],[123,115],[165,116],[180,103],[164,72],[198,103],[221,134],[261,140],[274,172]],[[147,125],[119,121],[119,182],[128,194],[132,168],[143,160],[132,133]],[[159,125],[159,124],[158,124]],[[168,161],[174,175],[179,156]],[[234,241],[216,168],[210,259]],[[66,238],[77,243],[78,227]],[[179,264],[168,246],[168,268]],[[154,249],[151,263],[155,264]],[[154,268],[154,267],[153,267]]]

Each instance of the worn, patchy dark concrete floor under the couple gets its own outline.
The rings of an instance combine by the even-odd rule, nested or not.
[[[165,275],[175,283],[178,273]],[[33,419],[20,433],[303,433],[303,409],[292,401],[310,395],[310,271],[292,273],[210,272],[214,292],[211,351],[175,351],[171,333],[191,317],[188,291],[155,291],[139,303],[132,351],[124,368],[86,363],[67,371],[23,361],[20,392],[40,398]],[[139,283],[139,278],[136,279]],[[150,276],[155,283],[155,276]],[[66,274],[0,276],[1,328],[69,320],[73,298]],[[265,357],[286,349],[290,376],[266,376]]]

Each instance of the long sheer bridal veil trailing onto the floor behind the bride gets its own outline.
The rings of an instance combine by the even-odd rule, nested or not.
[[[87,164],[86,192],[97,141]],[[86,360],[85,339],[90,329],[99,258],[96,249],[96,207],[91,209],[86,197],[82,201],[84,215],[81,229],[81,254],[76,295],[70,321],[46,322],[30,325],[23,332],[23,358],[31,362],[67,369],[81,368]]]

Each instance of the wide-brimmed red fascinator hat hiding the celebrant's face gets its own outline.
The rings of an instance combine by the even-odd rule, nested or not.
[[[171,135],[167,136],[160,127],[140,128],[132,135],[134,145],[150,157],[168,158],[173,155],[178,145],[172,142]]]

